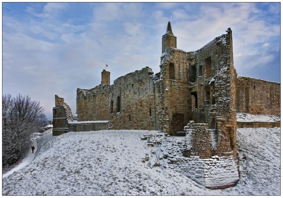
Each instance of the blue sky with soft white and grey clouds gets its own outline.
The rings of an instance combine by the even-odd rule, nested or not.
[[[3,3],[3,94],[41,101],[52,120],[54,95],[76,109],[77,88],[149,66],[159,72],[168,21],[177,48],[200,49],[233,33],[238,74],[280,82],[280,3]]]

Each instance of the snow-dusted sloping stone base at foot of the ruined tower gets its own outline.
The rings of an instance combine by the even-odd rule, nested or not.
[[[236,157],[212,156],[200,159],[199,156],[177,158],[177,172],[185,174],[191,180],[209,189],[225,189],[233,187],[239,181],[239,166]]]

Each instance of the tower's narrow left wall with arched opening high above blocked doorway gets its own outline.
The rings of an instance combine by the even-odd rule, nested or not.
[[[170,135],[178,135],[178,131],[183,131],[184,126],[191,120],[191,94],[188,89],[186,60],[186,52],[174,48],[167,48],[161,57],[160,73],[165,85],[164,113],[168,118],[165,120],[165,131]],[[171,74],[174,79],[170,79],[170,64],[174,66],[174,74]],[[176,117],[179,117],[177,122],[182,126],[182,130],[176,127]]]

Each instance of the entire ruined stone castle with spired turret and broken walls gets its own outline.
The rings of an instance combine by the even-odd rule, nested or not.
[[[60,98],[55,96],[56,100]],[[133,129],[185,136],[185,158],[179,161],[189,168],[183,171],[216,189],[236,185],[239,180],[236,112],[280,115],[280,83],[237,75],[230,28],[201,49],[185,52],[177,49],[177,37],[168,22],[159,73],[145,67],[110,85],[110,72],[103,70],[100,85],[77,89],[77,121],[67,116],[64,104],[64,99],[55,102],[53,135]],[[232,164],[226,164],[224,179],[217,176],[220,173],[209,160]]]

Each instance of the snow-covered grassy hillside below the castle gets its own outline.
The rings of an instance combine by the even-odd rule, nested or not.
[[[2,180],[3,195],[259,195],[280,194],[280,128],[237,129],[240,181],[209,190],[157,160],[148,131],[50,133],[32,163]],[[167,137],[163,149],[183,137]],[[170,144],[169,144],[170,143]],[[174,148],[173,148],[174,149]],[[177,151],[176,151],[177,153]]]

